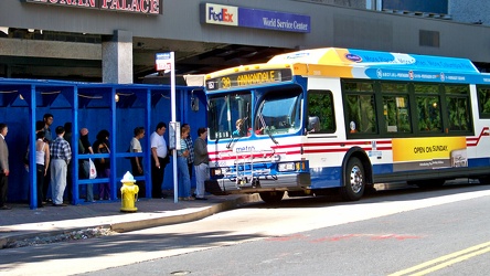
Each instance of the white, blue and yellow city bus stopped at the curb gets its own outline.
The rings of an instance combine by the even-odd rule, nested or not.
[[[204,81],[212,194],[490,183],[490,74],[469,60],[327,47]]]

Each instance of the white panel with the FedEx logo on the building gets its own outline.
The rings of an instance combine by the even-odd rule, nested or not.
[[[204,11],[203,11],[204,10]],[[201,11],[204,22],[209,24],[238,25],[238,8],[215,3],[203,3]]]

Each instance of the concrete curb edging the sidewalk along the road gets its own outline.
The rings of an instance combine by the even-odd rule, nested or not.
[[[140,221],[97,224],[97,225],[89,225],[89,226],[83,226],[83,227],[52,230],[52,231],[45,231],[45,232],[31,232],[31,233],[11,234],[11,235],[7,234],[7,235],[2,235],[0,237],[0,250],[3,250],[7,244],[13,243],[13,242],[20,241],[20,240],[34,238],[36,236],[38,237],[55,236],[55,235],[64,234],[66,232],[81,231],[81,230],[86,230],[86,229],[92,229],[92,227],[110,229],[111,231],[115,231],[118,233],[126,233],[126,232],[157,227],[157,226],[164,226],[164,225],[171,225],[171,224],[178,224],[178,223],[187,223],[187,222],[202,220],[204,217],[211,216],[213,214],[216,214],[216,213],[220,213],[223,211],[233,210],[233,209],[236,209],[236,208],[238,208],[243,204],[246,204],[246,203],[253,203],[253,202],[258,202],[258,201],[262,201],[262,200],[257,193],[244,194],[243,197],[237,198],[235,200],[230,200],[230,201],[225,201],[222,203],[217,203],[217,204],[209,206],[204,210],[192,212],[192,213],[187,213],[187,214],[178,214],[178,215],[155,217],[155,219],[148,219],[148,220],[140,220]]]

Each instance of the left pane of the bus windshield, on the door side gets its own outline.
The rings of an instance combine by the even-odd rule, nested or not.
[[[209,99],[210,139],[243,137],[251,127],[251,92],[220,95]]]

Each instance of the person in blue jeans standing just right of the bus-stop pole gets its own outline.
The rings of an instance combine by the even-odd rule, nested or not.
[[[183,126],[180,131],[180,149],[177,151],[177,169],[179,179],[179,200],[194,200],[191,197],[191,178],[189,177],[188,156],[190,151],[185,139],[191,128],[189,125]]]

